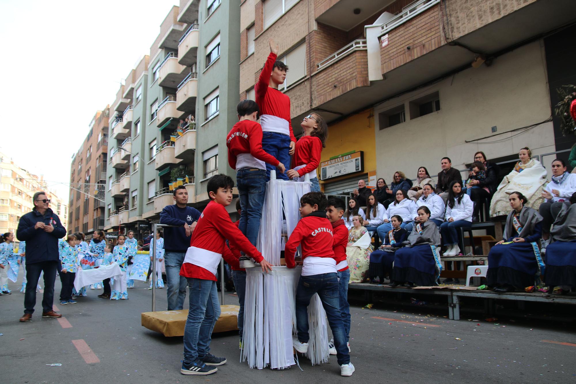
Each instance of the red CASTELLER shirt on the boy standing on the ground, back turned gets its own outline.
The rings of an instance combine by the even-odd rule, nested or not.
[[[298,221],[284,249],[288,268],[296,266],[294,253],[298,244],[302,245],[302,261],[305,261],[307,257],[329,258],[332,259],[333,266],[336,265],[332,250],[332,224],[326,219],[324,212],[313,212]],[[327,264],[329,263],[327,261]],[[304,268],[306,268],[306,262],[304,262]],[[306,276],[304,268],[302,269],[302,276]]]

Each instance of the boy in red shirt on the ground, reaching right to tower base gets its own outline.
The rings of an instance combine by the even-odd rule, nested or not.
[[[223,257],[238,268],[238,259],[226,247],[226,239],[260,262],[264,272],[271,270],[270,263],[242,235],[226,212],[225,207],[232,202],[233,187],[234,180],[227,175],[214,175],[208,180],[207,191],[211,201],[200,215],[180,269],[180,276],[188,280],[190,288],[190,310],[184,328],[184,360],[180,368],[184,375],[209,375],[218,370],[211,366],[226,363],[225,357],[210,354],[212,330],[220,315],[217,267]]]

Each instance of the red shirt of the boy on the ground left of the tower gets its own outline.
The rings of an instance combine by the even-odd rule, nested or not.
[[[200,215],[198,224],[192,234],[190,246],[210,253],[221,254],[222,257],[235,268],[240,268],[238,259],[226,246],[226,239],[245,254],[254,258],[257,262],[262,261],[263,257],[260,251],[253,246],[246,236],[240,232],[240,229],[232,223],[230,215],[226,208],[217,202],[210,201]],[[184,259],[180,276],[200,278],[202,280],[216,280],[216,276],[209,270]]]

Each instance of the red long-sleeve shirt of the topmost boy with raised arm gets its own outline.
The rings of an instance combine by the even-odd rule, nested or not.
[[[278,91],[278,89],[271,88],[270,74],[274,68],[277,55],[270,52],[268,59],[260,72],[258,82],[254,86],[256,94],[256,104],[260,107],[260,115],[272,115],[288,122],[290,130],[290,141],[296,141],[294,132],[292,130],[292,122],[290,118],[290,97]],[[266,129],[264,129],[266,130]]]

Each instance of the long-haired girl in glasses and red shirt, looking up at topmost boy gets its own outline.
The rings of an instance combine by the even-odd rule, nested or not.
[[[319,114],[309,114],[300,123],[304,135],[296,142],[292,167],[286,174],[296,181],[304,181],[304,176],[310,176],[312,192],[320,192],[320,184],[316,175],[316,168],[320,164],[320,153],[326,148],[328,125]]]

